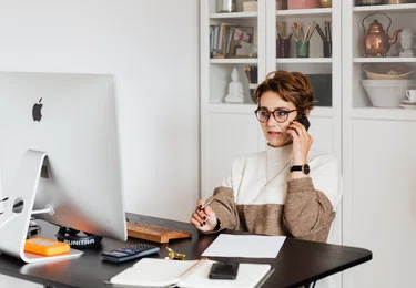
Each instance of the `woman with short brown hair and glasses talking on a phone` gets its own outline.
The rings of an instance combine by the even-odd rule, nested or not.
[[[231,175],[197,202],[191,223],[202,233],[221,229],[326,241],[341,198],[338,163],[311,151],[313,138],[297,121],[314,99],[300,72],[275,71],[254,92],[266,151],[234,160]]]

